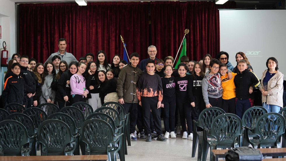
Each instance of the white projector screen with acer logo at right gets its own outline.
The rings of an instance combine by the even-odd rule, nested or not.
[[[237,52],[245,53],[261,79],[266,60],[275,57],[286,80],[286,10],[219,10],[220,50],[235,67]]]

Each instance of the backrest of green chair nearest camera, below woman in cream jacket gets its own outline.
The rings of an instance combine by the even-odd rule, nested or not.
[[[255,134],[259,135],[261,144],[269,144],[272,140],[273,143],[284,133],[285,119],[276,112],[269,112],[262,115],[258,120],[255,127]]]

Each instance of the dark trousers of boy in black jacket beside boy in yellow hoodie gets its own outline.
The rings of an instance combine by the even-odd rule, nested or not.
[[[240,119],[242,119],[243,113],[250,107],[253,106],[253,99],[249,98],[249,99],[238,99],[236,98],[235,101],[235,112],[236,115],[238,115],[238,117]]]

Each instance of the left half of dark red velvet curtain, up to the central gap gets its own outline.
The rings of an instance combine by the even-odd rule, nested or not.
[[[67,52],[77,59],[104,50],[108,62],[123,58],[123,44],[132,52],[146,53],[149,45],[149,4],[104,2],[19,5],[19,53],[45,62],[58,50],[59,38],[67,39]]]

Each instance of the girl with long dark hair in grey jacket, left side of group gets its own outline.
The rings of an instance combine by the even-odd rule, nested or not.
[[[42,85],[42,95],[40,97],[40,103],[54,103],[55,102],[55,91],[52,89],[51,85],[55,76],[55,66],[52,62],[46,62],[44,66],[43,77],[45,81]]]

